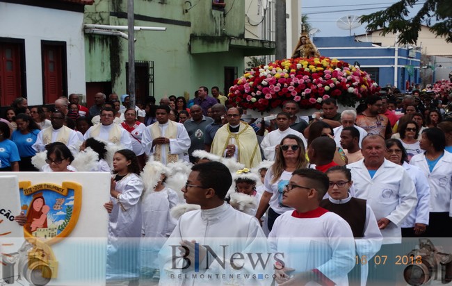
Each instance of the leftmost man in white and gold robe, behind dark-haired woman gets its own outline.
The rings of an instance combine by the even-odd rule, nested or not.
[[[64,126],[65,116],[59,110],[51,116],[51,127],[42,129],[38,133],[33,149],[36,152],[45,151],[45,146],[53,142],[62,142],[67,145],[72,154],[79,153],[79,137],[71,128]]]

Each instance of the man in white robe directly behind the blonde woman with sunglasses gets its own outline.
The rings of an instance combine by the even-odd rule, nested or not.
[[[297,135],[305,144],[305,149],[307,146],[307,141],[305,136],[303,136],[300,132],[289,127],[289,119],[290,115],[286,112],[280,112],[276,116],[276,125],[277,129],[268,133],[264,140],[261,142],[261,149],[264,150],[264,156],[267,160],[275,160],[275,153],[277,148],[280,148],[280,142],[282,138],[286,137],[286,135],[293,134]]]

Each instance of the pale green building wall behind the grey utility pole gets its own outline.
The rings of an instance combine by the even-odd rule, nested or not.
[[[135,32],[135,60],[154,61],[154,90],[157,100],[170,94],[181,96],[184,92],[193,97],[200,85],[209,88],[217,85],[223,90],[224,67],[237,67],[238,75],[241,76],[244,68],[241,49],[196,54],[191,54],[189,49],[191,35],[243,37],[244,3],[233,3],[227,1],[225,11],[229,12],[222,19],[222,12],[211,9],[211,1],[198,1],[188,12],[184,12],[184,9],[190,6],[180,0],[134,2],[136,15],[166,19],[169,22],[158,23],[137,17],[135,21],[136,26],[167,28],[165,32]],[[96,1],[95,6],[86,6],[85,23],[127,25],[127,19],[110,15],[110,11],[127,12],[126,5],[125,0]],[[191,26],[183,26],[181,23],[191,23]],[[86,35],[85,45],[86,81],[111,81],[113,92],[124,94],[127,83],[127,40],[115,36]]]

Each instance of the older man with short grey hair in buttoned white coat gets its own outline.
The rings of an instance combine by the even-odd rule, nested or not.
[[[390,259],[386,266],[371,261],[369,269],[375,271],[369,271],[369,281],[393,285],[399,270],[393,256],[402,242],[401,224],[417,205],[416,189],[402,166],[385,159],[383,137],[367,135],[362,141],[361,151],[364,159],[347,167],[352,173],[355,196],[367,200],[383,235],[383,246],[377,255]]]

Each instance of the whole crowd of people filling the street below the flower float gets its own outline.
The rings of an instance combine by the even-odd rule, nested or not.
[[[245,249],[268,237],[273,253],[289,257],[302,252],[290,238],[328,249],[311,253],[315,262],[277,260],[281,285],[395,281],[394,271],[355,258],[394,253],[403,237],[452,237],[452,93],[387,88],[341,113],[325,99],[309,117],[286,101],[268,120],[229,105],[218,87],[208,93],[200,87],[194,99],[169,96],[144,109],[100,92],[90,108],[76,94],[54,109],[18,98],[0,121],[1,171],[111,172],[113,283],[167,279],[168,237],[184,258],[196,247],[208,254],[198,244],[207,237],[246,238]],[[128,265],[124,237],[147,239]]]

